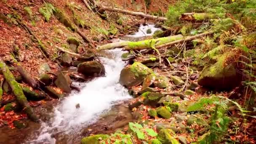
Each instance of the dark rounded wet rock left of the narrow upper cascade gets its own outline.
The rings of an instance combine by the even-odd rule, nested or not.
[[[77,72],[85,76],[102,76],[105,75],[104,66],[98,61],[85,61],[78,65]]]

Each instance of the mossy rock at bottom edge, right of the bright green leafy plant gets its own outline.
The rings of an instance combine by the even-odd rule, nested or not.
[[[162,144],[179,144],[179,142],[176,143],[177,140],[173,140],[175,136],[176,134],[173,130],[169,128],[163,128],[159,131],[157,139],[161,141]]]

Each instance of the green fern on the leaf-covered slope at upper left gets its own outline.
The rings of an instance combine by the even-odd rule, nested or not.
[[[45,3],[43,7],[39,8],[39,12],[45,17],[45,21],[49,21],[53,12],[56,11],[51,3]]]

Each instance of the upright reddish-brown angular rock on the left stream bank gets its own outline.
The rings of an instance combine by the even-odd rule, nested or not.
[[[59,74],[57,75],[57,79],[55,80],[54,83],[58,88],[61,88],[64,92],[66,93],[71,92],[70,84],[72,83],[72,81],[68,74],[59,72]]]

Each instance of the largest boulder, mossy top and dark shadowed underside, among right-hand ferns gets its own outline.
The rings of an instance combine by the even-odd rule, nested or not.
[[[232,89],[239,85],[241,75],[236,69],[234,57],[236,55],[233,52],[217,56],[214,64],[208,64],[203,69],[198,84],[214,89]]]

